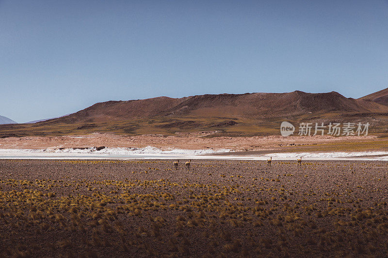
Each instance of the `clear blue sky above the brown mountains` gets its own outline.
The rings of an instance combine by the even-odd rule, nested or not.
[[[0,115],[108,100],[388,87],[388,1],[0,0]]]

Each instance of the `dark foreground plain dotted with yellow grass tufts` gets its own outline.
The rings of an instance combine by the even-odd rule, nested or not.
[[[386,162],[0,160],[0,257],[383,257]]]

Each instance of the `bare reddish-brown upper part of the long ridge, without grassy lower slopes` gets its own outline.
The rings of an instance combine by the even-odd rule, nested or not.
[[[388,112],[388,107],[363,99],[346,98],[338,92],[206,94],[184,98],[157,97],[144,100],[107,101],[71,115],[43,123],[112,122],[144,118],[239,117],[268,119],[328,112]]]

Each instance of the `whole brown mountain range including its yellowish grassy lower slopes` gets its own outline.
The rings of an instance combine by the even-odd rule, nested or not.
[[[388,89],[359,99],[338,92],[205,94],[183,98],[96,103],[65,117],[0,126],[0,134],[67,135],[92,132],[175,134],[218,131],[226,135],[278,134],[281,121],[370,121],[388,124]],[[384,95],[386,94],[386,95]],[[377,100],[377,101],[376,101]]]

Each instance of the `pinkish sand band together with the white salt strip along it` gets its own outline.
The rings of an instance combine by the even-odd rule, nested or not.
[[[0,159],[388,160],[388,140],[376,136],[209,137],[93,133],[0,139]],[[99,150],[96,147],[104,146]]]

